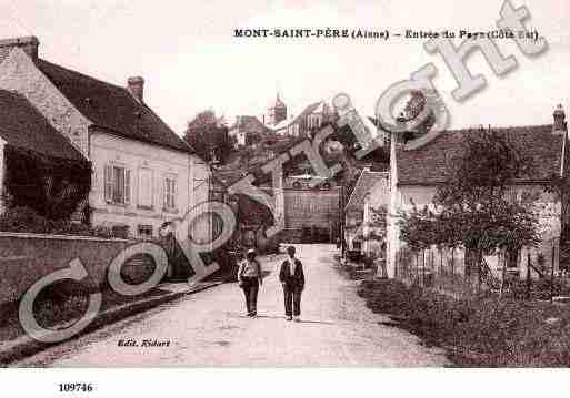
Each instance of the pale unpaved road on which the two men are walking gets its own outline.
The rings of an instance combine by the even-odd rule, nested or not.
[[[381,325],[357,296],[358,283],[344,279],[332,263],[330,245],[299,245],[307,287],[302,322],[286,322],[279,262],[263,264],[270,274],[256,319],[243,316],[236,284],[187,296],[144,314],[52,347],[16,366],[168,367],[168,366],[443,366],[441,350],[417,337]],[[138,346],[121,346],[134,340]],[[142,347],[143,340],[168,343]]]

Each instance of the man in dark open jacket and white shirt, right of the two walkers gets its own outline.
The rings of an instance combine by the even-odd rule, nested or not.
[[[283,285],[286,316],[287,320],[292,320],[294,316],[294,320],[300,322],[301,293],[304,288],[303,265],[294,257],[294,246],[289,246],[287,254],[289,258],[281,264],[279,271],[279,280]]]

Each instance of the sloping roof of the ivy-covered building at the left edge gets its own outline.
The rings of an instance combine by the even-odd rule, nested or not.
[[[0,136],[13,147],[52,157],[83,160],[23,95],[4,90],[0,90]]]

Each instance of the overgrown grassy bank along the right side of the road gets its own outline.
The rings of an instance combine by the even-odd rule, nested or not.
[[[364,282],[359,294],[374,313],[396,315],[403,328],[448,348],[457,365],[570,365],[567,307],[494,296],[456,299],[398,280]]]

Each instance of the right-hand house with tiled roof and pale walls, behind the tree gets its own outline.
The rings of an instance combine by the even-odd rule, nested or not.
[[[498,133],[506,134],[511,139],[518,151],[533,159],[536,165],[532,175],[521,177],[511,187],[511,195],[520,195],[521,192],[533,191],[539,193],[536,203],[539,208],[539,223],[541,244],[538,247],[526,247],[517,253],[516,258],[509,263],[514,272],[521,275],[527,273],[527,255],[531,261],[541,254],[546,259],[546,266],[550,267],[553,261],[554,268],[558,267],[559,238],[562,223],[560,200],[544,192],[544,185],[553,175],[567,173],[568,157],[568,132],[564,114],[559,108],[554,112],[554,123],[551,125],[501,127],[496,129]],[[410,211],[413,205],[423,207],[430,206],[437,193],[438,186],[446,183],[446,167],[453,162],[453,156],[460,149],[462,136],[470,131],[446,131],[431,142],[414,150],[407,150],[403,143],[391,140],[390,150],[390,194],[387,215],[387,271],[389,277],[397,274],[399,254],[406,244],[400,241],[400,228],[398,226],[398,213]],[[453,262],[464,262],[463,249],[440,251],[432,247],[430,255],[443,257],[443,262],[451,256]],[[498,254],[487,256],[491,272],[499,273],[502,267],[501,256]],[[439,261],[438,261],[439,263]]]

